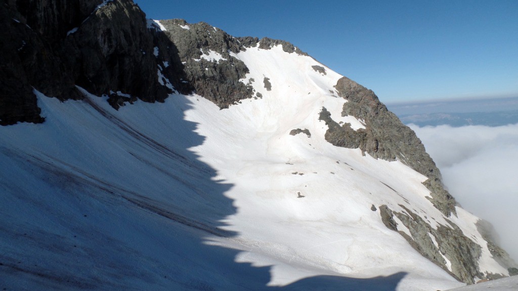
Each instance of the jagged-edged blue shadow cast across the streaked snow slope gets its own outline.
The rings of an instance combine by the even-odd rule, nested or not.
[[[233,185],[189,150],[205,141],[184,120],[189,100],[166,103],[177,111],[145,106],[157,124],[89,97],[59,105],[77,112],[48,105],[42,125],[0,128],[0,289],[396,289],[406,273],[267,286],[271,267],[208,244],[237,235],[223,222],[236,213],[225,196]]]

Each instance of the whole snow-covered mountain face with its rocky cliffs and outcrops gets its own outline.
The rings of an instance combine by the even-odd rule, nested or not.
[[[77,86],[23,79],[40,115],[2,96],[4,123],[45,122],[0,127],[0,287],[442,290],[515,272],[370,90],[284,41],[94,2],[34,40],[70,49]],[[30,69],[19,54],[11,70]]]

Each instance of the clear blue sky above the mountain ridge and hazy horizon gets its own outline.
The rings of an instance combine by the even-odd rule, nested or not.
[[[518,1],[136,0],[148,18],[292,42],[385,103],[518,96]]]

